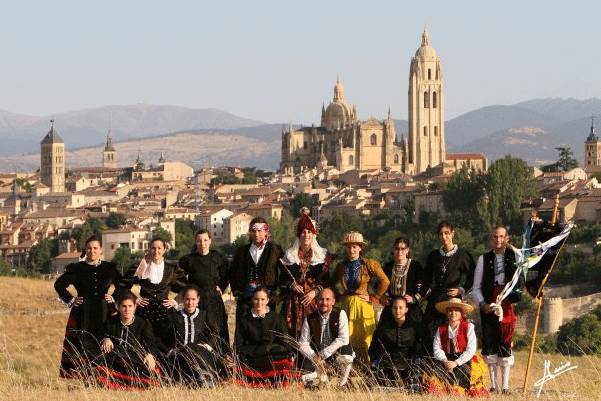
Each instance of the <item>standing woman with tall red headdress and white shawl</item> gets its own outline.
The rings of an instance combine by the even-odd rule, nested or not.
[[[303,208],[296,226],[296,240],[280,259],[284,266],[281,277],[282,312],[288,333],[298,339],[305,316],[317,310],[317,296],[329,287],[329,268],[332,255],[317,243],[317,228]]]

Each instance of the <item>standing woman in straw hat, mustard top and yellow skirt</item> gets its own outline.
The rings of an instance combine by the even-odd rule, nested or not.
[[[346,260],[336,266],[336,279],[343,289],[342,308],[349,318],[350,344],[363,362],[368,362],[367,350],[376,329],[373,303],[378,303],[388,289],[390,281],[378,262],[362,256],[365,245],[363,235],[351,231],[344,236]],[[369,283],[378,282],[376,293],[369,293]]]

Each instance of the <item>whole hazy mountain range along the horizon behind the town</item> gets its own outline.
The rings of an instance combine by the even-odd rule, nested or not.
[[[446,122],[449,152],[480,152],[489,160],[506,154],[540,165],[556,160],[555,147],[569,146],[583,160],[591,115],[601,112],[601,99],[546,98],[513,105],[492,105]],[[54,118],[67,148],[67,165],[100,164],[100,152],[110,127],[119,163],[137,157],[167,157],[199,165],[279,165],[282,124],[238,117],[218,109],[136,104],[104,106],[56,114],[28,116],[0,111],[0,163],[4,170],[39,167],[39,141]],[[397,134],[407,133],[407,121],[395,120]],[[192,145],[193,144],[193,145]],[[97,159],[97,163],[90,160]]]

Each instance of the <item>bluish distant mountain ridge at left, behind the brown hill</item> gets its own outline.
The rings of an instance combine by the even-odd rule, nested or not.
[[[0,155],[38,151],[41,138],[48,132],[50,118],[56,121],[56,128],[68,148],[102,143],[109,121],[116,141],[182,130],[234,129],[264,124],[218,109],[149,104],[104,106],[52,117],[0,111],[0,140],[4,145],[0,147]]]

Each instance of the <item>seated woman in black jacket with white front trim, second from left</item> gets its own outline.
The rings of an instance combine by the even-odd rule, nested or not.
[[[219,338],[215,321],[199,308],[200,291],[194,286],[182,290],[183,309],[171,310],[172,338],[167,354],[171,377],[192,387],[213,387],[224,372],[216,352]]]

